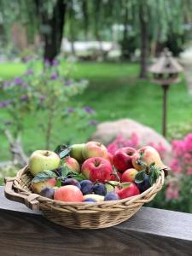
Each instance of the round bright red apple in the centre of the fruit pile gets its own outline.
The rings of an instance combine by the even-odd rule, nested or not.
[[[81,171],[90,181],[105,183],[111,179],[113,167],[108,160],[102,157],[92,157],[84,161]]]

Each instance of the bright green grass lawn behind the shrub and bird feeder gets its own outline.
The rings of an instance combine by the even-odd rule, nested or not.
[[[129,118],[161,131],[162,89],[148,80],[137,79],[138,70],[138,65],[133,63],[78,63],[73,77],[88,79],[90,85],[83,95],[74,98],[74,102],[94,108],[99,122]],[[1,64],[0,78],[10,79],[24,71],[25,66],[20,63]],[[3,96],[0,96],[1,100]],[[168,96],[169,124],[176,127],[188,124],[192,116],[191,102],[184,81],[172,85]],[[8,118],[5,109],[0,110],[0,115]],[[40,116],[36,114],[25,121],[23,145],[27,154],[44,148],[44,132],[37,125],[38,119]],[[64,121],[56,123],[51,148],[68,141],[83,142],[94,129],[90,126],[77,131],[76,125],[66,127]],[[3,134],[0,142],[0,160],[8,160],[9,148]]]

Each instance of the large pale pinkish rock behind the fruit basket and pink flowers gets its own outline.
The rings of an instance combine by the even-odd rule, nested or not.
[[[112,122],[104,122],[96,126],[96,132],[92,135],[91,139],[99,141],[108,145],[121,134],[125,138],[132,137],[137,134],[139,147],[154,144],[162,145],[166,148],[165,163],[168,165],[172,159],[172,146],[168,143],[165,137],[161,136],[152,128],[139,124],[131,119],[119,119]]]

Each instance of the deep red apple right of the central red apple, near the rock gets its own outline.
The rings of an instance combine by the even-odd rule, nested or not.
[[[125,172],[125,170],[133,167],[132,158],[136,153],[137,150],[135,148],[119,148],[113,155],[113,166],[115,166],[118,171]]]

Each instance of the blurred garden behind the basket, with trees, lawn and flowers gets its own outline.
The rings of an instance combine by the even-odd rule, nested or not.
[[[167,102],[148,67],[183,66]],[[192,1],[0,0],[0,177],[36,149],[157,148],[172,167],[149,206],[192,212]]]

